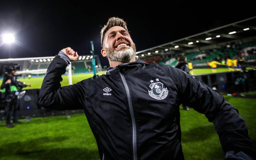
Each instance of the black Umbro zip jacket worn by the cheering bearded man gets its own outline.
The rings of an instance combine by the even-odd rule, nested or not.
[[[236,108],[180,69],[137,59],[101,76],[61,87],[67,65],[55,56],[44,77],[38,105],[52,110],[83,109],[101,159],[184,159],[181,103],[213,122],[225,153],[243,151],[252,156],[252,141]]]

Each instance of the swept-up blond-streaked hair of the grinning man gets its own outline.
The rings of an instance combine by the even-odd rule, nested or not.
[[[114,27],[114,26],[121,26],[126,31],[128,31],[127,24],[124,21],[124,19],[118,18],[118,17],[111,17],[111,18],[109,18],[107,24],[104,25],[104,27],[100,31],[101,47],[103,47],[103,40],[104,40],[104,36],[105,36],[106,32],[109,30],[109,28]]]

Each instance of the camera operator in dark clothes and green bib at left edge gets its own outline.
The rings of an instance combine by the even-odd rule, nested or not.
[[[25,84],[17,79],[17,68],[12,67],[7,73],[4,74],[3,83],[1,85],[1,99],[2,103],[5,104],[5,119],[6,127],[14,127],[11,123],[11,113],[12,122],[20,124],[21,122],[17,120],[17,96],[19,91],[26,86],[31,86],[30,84]]]

